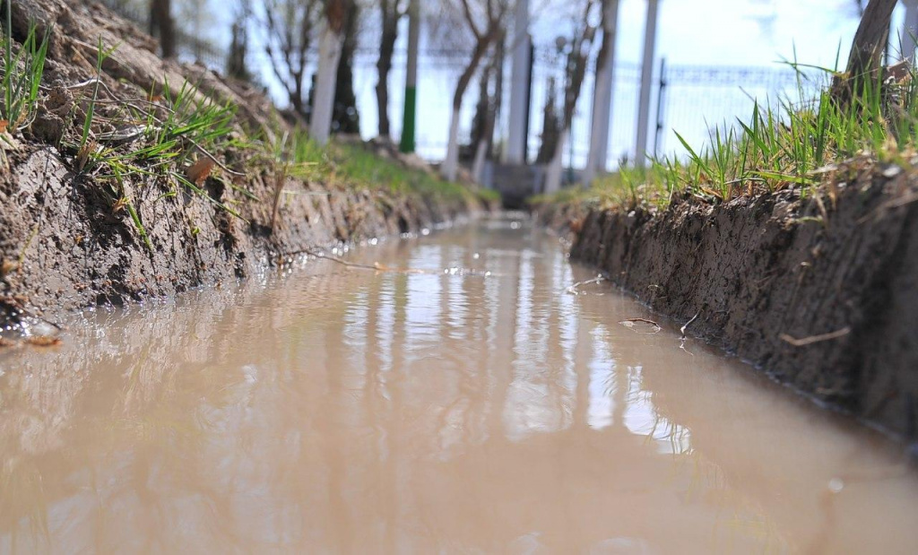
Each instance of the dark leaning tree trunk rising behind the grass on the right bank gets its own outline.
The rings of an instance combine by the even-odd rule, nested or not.
[[[834,99],[846,103],[856,96],[866,78],[876,74],[883,63],[883,52],[890,35],[892,10],[898,0],[870,0],[861,17],[851,54],[848,57],[847,72],[843,79],[835,80]]]

